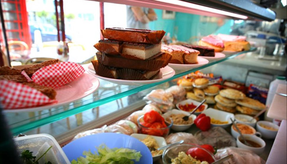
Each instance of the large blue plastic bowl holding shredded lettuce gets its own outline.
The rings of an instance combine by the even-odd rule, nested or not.
[[[70,161],[77,160],[84,151],[97,151],[95,146],[106,144],[108,148],[130,148],[141,152],[141,159],[135,164],[152,164],[149,148],[144,143],[129,135],[118,133],[98,133],[74,140],[63,147],[63,151]]]

